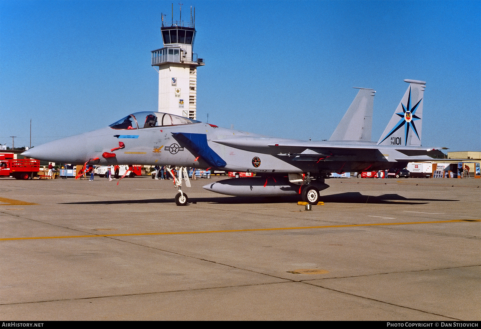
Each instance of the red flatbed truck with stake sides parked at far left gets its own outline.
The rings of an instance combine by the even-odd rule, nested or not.
[[[12,153],[0,154],[0,177],[32,179],[40,171],[40,161],[35,159],[13,159]]]

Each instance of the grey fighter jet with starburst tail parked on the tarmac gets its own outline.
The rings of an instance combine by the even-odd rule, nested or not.
[[[129,114],[108,127],[54,140],[22,153],[26,157],[69,164],[163,164],[251,172],[255,177],[229,178],[205,185],[234,196],[300,195],[316,204],[327,189],[331,172],[404,168],[408,162],[430,160],[421,147],[423,92],[426,82],[409,83],[379,141],[371,139],[375,91],[360,89],[328,141],[266,137],[226,129],[159,112]],[[170,171],[173,174],[173,171]],[[188,203],[181,190],[184,169],[178,170],[177,205]]]

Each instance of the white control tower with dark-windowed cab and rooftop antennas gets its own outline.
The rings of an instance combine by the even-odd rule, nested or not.
[[[181,21],[181,13],[179,21],[174,21],[173,16],[166,23],[162,14],[164,48],[152,51],[152,66],[157,66],[159,72],[159,112],[196,119],[197,67],[205,63],[192,50],[195,8],[194,16],[190,8],[190,23]]]

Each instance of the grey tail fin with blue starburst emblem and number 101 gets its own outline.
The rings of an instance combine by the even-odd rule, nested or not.
[[[422,100],[425,81],[405,79],[409,87],[392,114],[378,145],[421,146]]]

